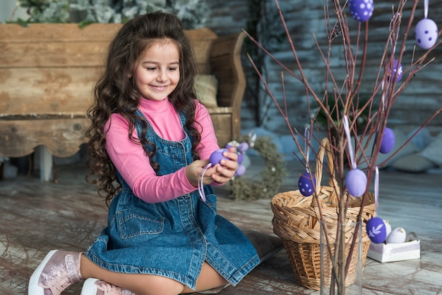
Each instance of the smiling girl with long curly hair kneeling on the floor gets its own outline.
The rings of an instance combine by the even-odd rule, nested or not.
[[[148,13],[119,30],[88,110],[89,180],[106,196],[107,227],[85,253],[49,252],[29,294],[58,295],[83,279],[82,294],[191,293],[235,285],[260,263],[251,241],[216,215],[211,186],[234,176],[233,150],[205,171],[199,197],[219,147],[195,75],[176,16]],[[268,245],[266,253],[280,246]]]

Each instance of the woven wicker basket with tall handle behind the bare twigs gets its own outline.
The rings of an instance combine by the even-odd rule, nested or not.
[[[325,152],[330,172],[329,186],[321,186]],[[323,216],[323,222],[327,222],[329,226],[332,224],[332,227],[334,227],[328,229],[330,238],[330,233],[335,233],[338,227],[337,207],[338,195],[340,195],[340,188],[335,179],[333,157],[327,138],[321,141],[318,150],[315,177],[317,198],[314,194],[311,197],[304,197],[299,190],[288,191],[275,195],[270,204],[273,211],[273,231],[277,236],[280,236],[284,243],[296,281],[306,288],[319,290],[321,287],[320,214]],[[346,216],[346,222],[348,223],[357,222],[362,199],[364,198],[365,200],[362,214],[362,265],[364,266],[366,254],[370,246],[370,239],[366,234],[365,224],[374,216],[376,210],[374,195],[366,193],[361,198],[355,198],[352,195],[346,196],[349,200]],[[333,240],[333,236],[331,239]],[[346,246],[346,248],[348,253],[350,246]],[[355,277],[352,277],[352,274],[356,273],[355,267],[356,263],[350,263],[346,285],[354,282]],[[330,270],[328,270],[328,273],[330,274]],[[330,277],[325,278],[325,282],[328,282],[328,287],[330,287]]]

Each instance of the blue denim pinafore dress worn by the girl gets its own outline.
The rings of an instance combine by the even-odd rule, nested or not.
[[[137,114],[143,116],[139,110]],[[179,118],[184,129],[186,118],[180,113]],[[140,136],[140,123],[136,129]],[[184,140],[169,141],[157,136],[148,123],[146,137],[157,148],[157,175],[173,173],[193,161],[188,133]],[[107,227],[86,252],[93,263],[114,272],[168,277],[191,289],[196,288],[204,261],[232,285],[259,264],[249,239],[216,214],[211,186],[204,187],[205,203],[196,190],[152,204],[137,198],[119,179],[123,188],[109,206]]]

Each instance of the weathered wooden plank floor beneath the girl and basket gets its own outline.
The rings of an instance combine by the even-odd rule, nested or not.
[[[258,161],[252,161],[258,162]],[[296,189],[299,165],[287,163],[289,176],[280,191]],[[249,175],[258,172],[249,167]],[[0,294],[27,294],[28,279],[48,251],[85,251],[107,222],[107,208],[84,181],[86,169],[71,164],[56,170],[57,183],[38,176],[0,180]],[[393,227],[414,232],[421,259],[378,263],[367,259],[364,294],[442,294],[442,174],[381,171],[378,216]],[[273,233],[270,200],[237,202],[218,188],[218,212],[241,229]],[[80,294],[81,285],[64,294]],[[258,265],[236,287],[220,295],[319,294],[294,282],[285,251]]]

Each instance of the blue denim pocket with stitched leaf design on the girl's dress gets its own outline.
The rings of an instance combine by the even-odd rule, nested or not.
[[[134,212],[120,210],[117,213],[119,236],[121,239],[133,238],[143,234],[160,234],[165,228],[165,219],[153,219]]]

